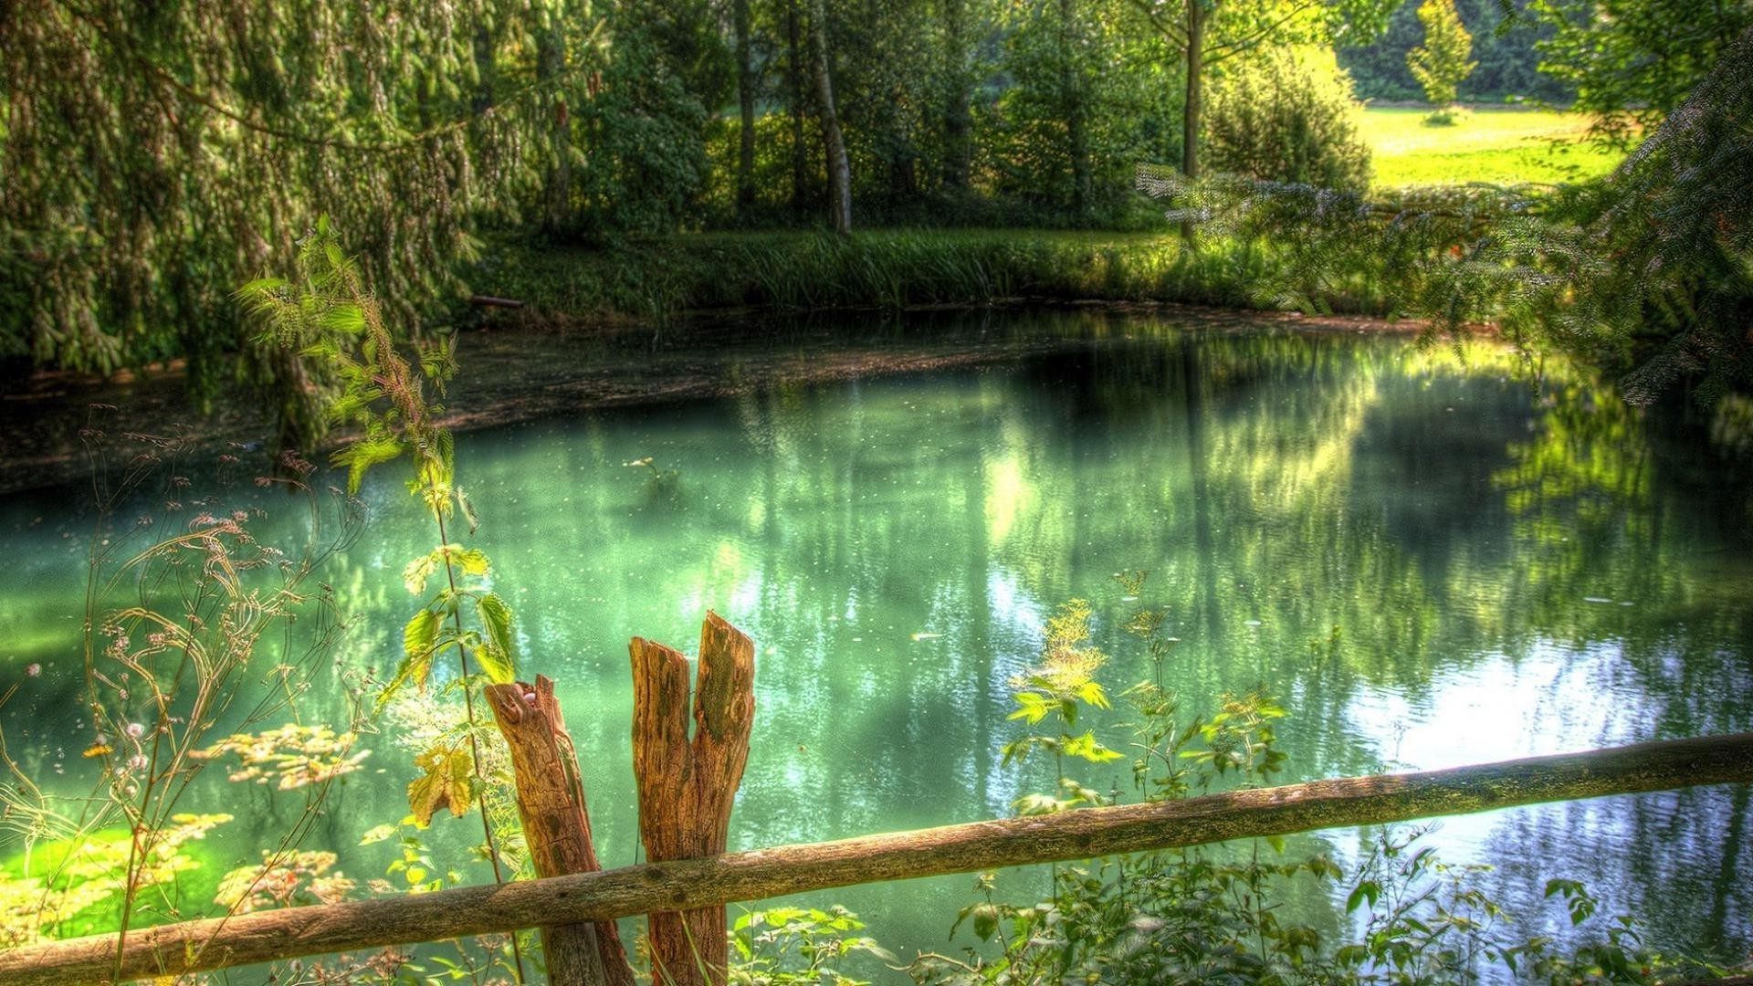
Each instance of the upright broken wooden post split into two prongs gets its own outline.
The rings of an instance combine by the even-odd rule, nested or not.
[[[654,861],[724,853],[731,804],[749,763],[756,714],[756,646],[719,614],[699,628],[694,737],[687,735],[687,658],[635,637],[633,774],[640,839]],[[729,961],[724,905],[650,916],[652,982],[722,986]]]

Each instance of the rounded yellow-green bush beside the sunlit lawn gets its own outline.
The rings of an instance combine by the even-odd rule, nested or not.
[[[1211,89],[1206,163],[1260,181],[1362,191],[1369,147],[1362,105],[1332,54],[1273,47],[1241,60]]]

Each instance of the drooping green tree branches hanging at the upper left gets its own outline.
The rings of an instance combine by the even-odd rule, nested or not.
[[[210,393],[238,351],[296,384],[230,288],[319,214],[407,328],[473,225],[550,209],[601,39],[589,0],[7,0],[0,49],[0,356]]]

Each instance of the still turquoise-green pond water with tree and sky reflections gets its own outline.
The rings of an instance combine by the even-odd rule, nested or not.
[[[1183,644],[1166,682],[1189,711],[1255,684],[1283,698],[1287,781],[1753,728],[1753,511],[1728,449],[1744,437],[1679,439],[1581,374],[1548,365],[1534,381],[1490,346],[1052,314],[927,328],[899,330],[896,349],[994,358],[763,379],[459,439],[482,514],[472,544],[519,614],[526,672],[559,681],[605,865],[636,854],[626,640],[691,651],[708,607],[757,642],[731,849],[1004,816],[1047,790],[1047,765],[1001,765],[1018,735],[1006,681],[1073,597],[1092,602],[1111,689],[1145,677],[1118,630],[1136,605],[1111,579],[1122,568],[1150,570],[1143,602],[1169,609]],[[624,465],[645,456],[678,482]],[[286,497],[240,495],[268,511],[265,542],[305,530]],[[82,497],[0,507],[0,674],[19,684],[0,714],[14,760],[65,793],[89,790]],[[365,537],[323,577],[359,618],[344,658],[384,667],[410,612],[401,565],[433,539],[393,467],[361,498]],[[1336,647],[1311,647],[1334,626]],[[309,707],[338,714],[333,674]],[[412,777],[387,735],[368,746],[370,770],[305,842],[359,879],[394,858],[356,842],[401,814]],[[1131,790],[1124,767],[1080,775]],[[217,770],[186,800],[240,816],[210,837],[228,865],[302,804]],[[1481,881],[1527,933],[1565,923],[1539,907],[1565,875],[1655,940],[1728,958],[1753,940],[1748,814],[1744,786],[1714,788],[1457,818],[1429,840],[1495,863]],[[429,833],[458,854],[479,835],[475,818]],[[1362,846],[1332,832],[1297,849],[1355,860]],[[1001,886],[1022,898],[1045,882]],[[961,947],[947,933],[969,886],[808,900],[847,904],[905,956]],[[1295,905],[1339,921],[1332,902]]]

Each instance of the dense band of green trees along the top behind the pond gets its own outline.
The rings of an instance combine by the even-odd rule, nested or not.
[[[408,330],[465,281],[493,288],[473,261],[491,270],[487,244],[512,232],[1160,228],[1162,205],[1134,189],[1143,165],[1364,191],[1352,111],[1416,96],[1415,7],[11,4],[0,354],[12,374],[184,358],[198,393],[237,374],[284,382],[298,370],[242,344],[230,291],[282,268],[321,214]],[[1457,12],[1478,65],[1462,98],[1574,102],[1622,144],[1753,21],[1746,4],[1678,0]],[[1746,72],[1721,75],[1716,111],[1732,114]],[[1744,249],[1728,202],[1692,205]],[[1585,204],[1578,221],[1608,212]]]

